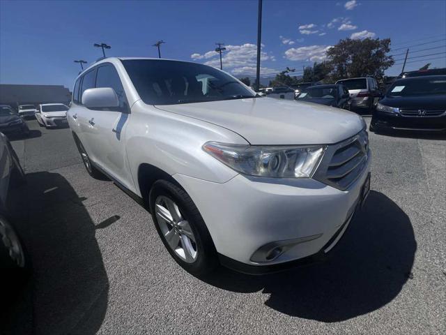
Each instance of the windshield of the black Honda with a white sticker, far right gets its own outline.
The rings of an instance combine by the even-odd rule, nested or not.
[[[387,96],[431,96],[446,94],[446,76],[398,80]]]

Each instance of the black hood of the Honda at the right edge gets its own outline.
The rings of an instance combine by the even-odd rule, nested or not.
[[[380,104],[401,109],[446,110],[446,95],[385,96]]]

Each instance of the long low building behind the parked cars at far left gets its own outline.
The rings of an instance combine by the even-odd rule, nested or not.
[[[71,92],[62,85],[16,85],[0,84],[0,104],[38,105],[40,103],[68,103]]]

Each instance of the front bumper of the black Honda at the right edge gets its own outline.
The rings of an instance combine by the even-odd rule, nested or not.
[[[376,111],[371,126],[379,130],[446,131],[446,115],[440,117],[403,117]]]

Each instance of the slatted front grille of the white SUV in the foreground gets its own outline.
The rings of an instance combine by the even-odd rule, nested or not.
[[[357,135],[327,147],[313,178],[345,190],[360,177],[369,160],[369,136],[365,129]]]

